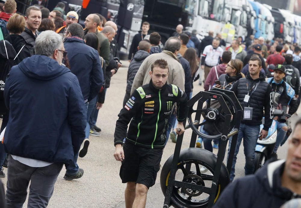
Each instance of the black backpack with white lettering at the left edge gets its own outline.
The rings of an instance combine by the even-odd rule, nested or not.
[[[18,55],[24,48],[25,44],[21,48],[21,50],[16,53],[13,46],[5,40],[0,41],[0,48],[3,48],[5,50],[5,54],[0,56],[0,63],[1,63],[1,70],[0,70],[0,114],[6,111],[5,103],[4,103],[4,87],[5,87],[5,80],[6,77],[11,70],[11,67],[19,64]],[[9,53],[8,53],[9,51]],[[12,58],[14,57],[14,59]]]

